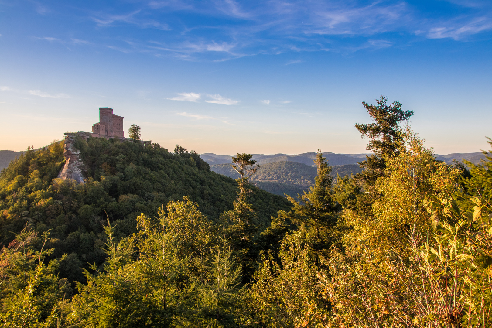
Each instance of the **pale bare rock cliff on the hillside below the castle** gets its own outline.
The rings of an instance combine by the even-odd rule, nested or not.
[[[80,151],[74,147],[75,136],[79,135],[82,138],[89,138],[90,135],[86,132],[65,133],[65,166],[58,174],[58,178],[61,179],[73,179],[79,183],[84,183],[84,173],[86,172],[85,165],[80,157]]]

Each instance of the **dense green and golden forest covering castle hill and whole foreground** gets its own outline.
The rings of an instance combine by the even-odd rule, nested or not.
[[[60,144],[28,149],[0,177],[4,327],[490,327],[492,152],[437,161],[412,111],[363,105],[362,171],[334,183],[318,151],[289,206],[246,153],[234,185],[180,147],[79,140],[76,184]]]

